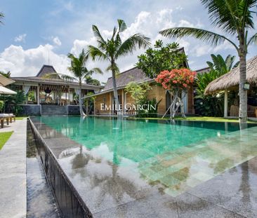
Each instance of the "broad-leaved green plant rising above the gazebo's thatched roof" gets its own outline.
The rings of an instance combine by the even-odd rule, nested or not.
[[[218,71],[218,77],[220,77],[239,65],[239,61],[234,64],[235,58],[236,56],[228,55],[224,60],[221,55],[211,54],[211,59],[213,62],[207,61],[206,63],[210,67],[211,71]]]

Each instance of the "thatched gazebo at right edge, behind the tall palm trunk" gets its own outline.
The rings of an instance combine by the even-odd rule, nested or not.
[[[257,116],[257,56],[246,62],[246,81],[250,85],[247,92],[248,116]],[[228,92],[232,90],[236,92],[239,90],[239,66],[211,81],[205,89],[206,95],[224,91],[224,117],[228,117]],[[230,116],[238,116],[238,111],[238,105],[232,104]]]

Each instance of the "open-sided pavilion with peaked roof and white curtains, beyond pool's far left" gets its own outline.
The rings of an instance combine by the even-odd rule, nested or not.
[[[28,106],[69,106],[79,104],[79,83],[62,79],[51,65],[44,65],[36,76],[11,77],[13,90],[23,90]],[[82,83],[81,96],[97,93],[101,86]],[[40,109],[41,111],[41,109]]]

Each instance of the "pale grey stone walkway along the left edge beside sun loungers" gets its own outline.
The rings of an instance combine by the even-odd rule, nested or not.
[[[0,217],[26,217],[27,119],[17,120],[0,132],[13,131],[0,150]]]

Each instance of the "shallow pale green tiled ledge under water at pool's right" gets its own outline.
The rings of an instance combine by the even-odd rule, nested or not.
[[[257,128],[230,132],[149,158],[139,170],[150,182],[176,197],[202,182],[257,156]]]

